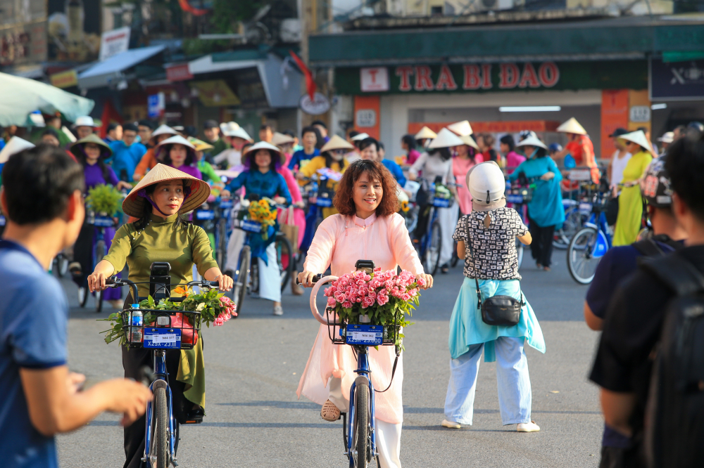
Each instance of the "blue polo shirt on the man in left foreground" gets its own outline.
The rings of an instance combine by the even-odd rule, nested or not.
[[[25,247],[0,240],[0,464],[58,467],[54,437],[34,429],[20,369],[65,365],[68,300]]]

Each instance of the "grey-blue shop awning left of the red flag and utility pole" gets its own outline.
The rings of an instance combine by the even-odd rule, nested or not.
[[[301,73],[294,67],[285,67],[274,53],[258,50],[212,53],[193,60],[188,67],[196,80],[199,74],[255,68],[270,108],[295,108],[301,98]]]

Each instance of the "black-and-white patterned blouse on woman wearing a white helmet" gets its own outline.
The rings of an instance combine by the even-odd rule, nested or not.
[[[484,228],[487,214],[491,214],[491,224],[489,228]],[[515,238],[527,232],[528,228],[513,208],[471,212],[462,216],[452,238],[465,241],[465,276],[479,280],[520,280]],[[476,266],[472,261],[472,252],[477,258]]]

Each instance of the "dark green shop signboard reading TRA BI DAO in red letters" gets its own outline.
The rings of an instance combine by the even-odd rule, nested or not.
[[[648,89],[646,60],[337,67],[339,94]]]

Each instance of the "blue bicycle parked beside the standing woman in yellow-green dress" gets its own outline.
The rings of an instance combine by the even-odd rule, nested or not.
[[[607,190],[597,192],[591,201],[579,204],[582,214],[589,213],[589,220],[570,240],[567,247],[567,269],[572,279],[581,285],[588,285],[594,279],[601,257],[612,247],[611,232],[605,214],[609,198],[610,193]]]

